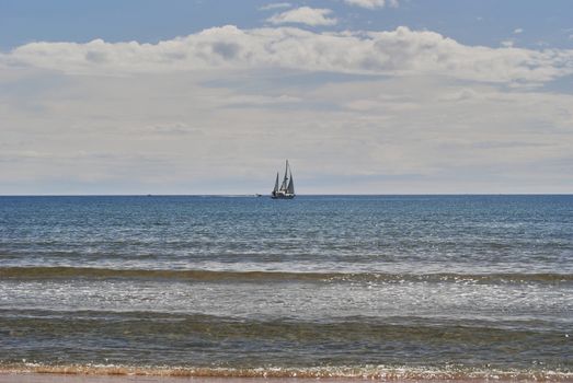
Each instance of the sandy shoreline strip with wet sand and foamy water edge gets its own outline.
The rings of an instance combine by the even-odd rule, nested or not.
[[[573,372],[551,370],[436,369],[436,368],[177,368],[129,365],[0,365],[0,382],[181,382],[308,383],[308,382],[573,382]]]

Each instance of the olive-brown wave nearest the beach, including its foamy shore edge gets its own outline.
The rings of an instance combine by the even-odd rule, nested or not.
[[[0,374],[571,380],[568,328],[408,317],[301,322],[4,310]]]

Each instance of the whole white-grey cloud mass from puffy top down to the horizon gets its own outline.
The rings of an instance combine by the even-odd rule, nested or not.
[[[514,88],[571,76],[568,49],[226,26],[0,68],[0,194],[264,193],[284,158],[301,194],[573,189],[573,96]]]

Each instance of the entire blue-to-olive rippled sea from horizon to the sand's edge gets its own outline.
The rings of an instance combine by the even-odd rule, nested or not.
[[[0,371],[573,380],[573,196],[0,197]]]

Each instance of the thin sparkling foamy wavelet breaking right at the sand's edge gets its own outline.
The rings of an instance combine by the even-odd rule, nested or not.
[[[503,370],[469,368],[415,368],[415,367],[317,367],[317,368],[190,368],[190,367],[136,367],[113,364],[0,364],[0,373],[47,373],[72,375],[114,376],[169,376],[169,378],[283,378],[303,379],[377,379],[388,381],[571,381],[573,372],[552,370]]]

